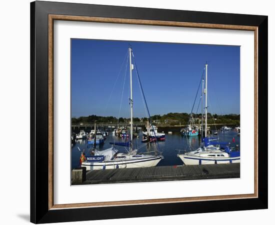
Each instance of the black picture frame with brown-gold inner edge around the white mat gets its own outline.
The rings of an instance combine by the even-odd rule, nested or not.
[[[254,31],[254,193],[54,204],[53,20]],[[93,4],[30,3],[30,221],[34,223],[267,208],[267,16]]]

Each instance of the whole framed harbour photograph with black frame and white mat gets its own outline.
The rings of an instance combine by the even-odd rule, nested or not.
[[[30,27],[31,222],[267,208],[267,16],[34,1]]]

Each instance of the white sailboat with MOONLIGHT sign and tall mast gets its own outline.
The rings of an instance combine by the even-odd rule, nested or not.
[[[155,166],[163,158],[162,155],[152,155],[137,153],[137,149],[133,148],[133,98],[132,98],[132,69],[131,56],[133,55],[131,47],[129,50],[129,72],[130,72],[130,135],[128,141],[128,152],[121,153],[115,144],[105,150],[97,150],[94,145],[92,155],[86,156],[86,160],[82,162],[81,166],[86,167],[86,170],[92,169],[112,169],[112,168],[133,168],[133,167],[150,167]],[[96,138],[96,135],[95,135]],[[127,142],[126,142],[127,143]],[[126,145],[124,145],[126,146]]]

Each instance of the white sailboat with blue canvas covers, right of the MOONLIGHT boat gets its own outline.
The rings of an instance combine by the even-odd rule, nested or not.
[[[202,94],[205,92],[205,137],[203,138],[204,146],[194,151],[177,154],[177,156],[186,165],[197,164],[220,164],[240,162],[240,152],[232,151],[227,142],[218,142],[216,137],[207,136],[207,67],[205,64],[205,89],[202,82]],[[203,104],[203,103],[202,103]],[[202,114],[202,113],[201,113]],[[202,121],[201,121],[202,122]],[[201,128],[203,128],[201,124]],[[201,130],[203,133],[203,130]]]

